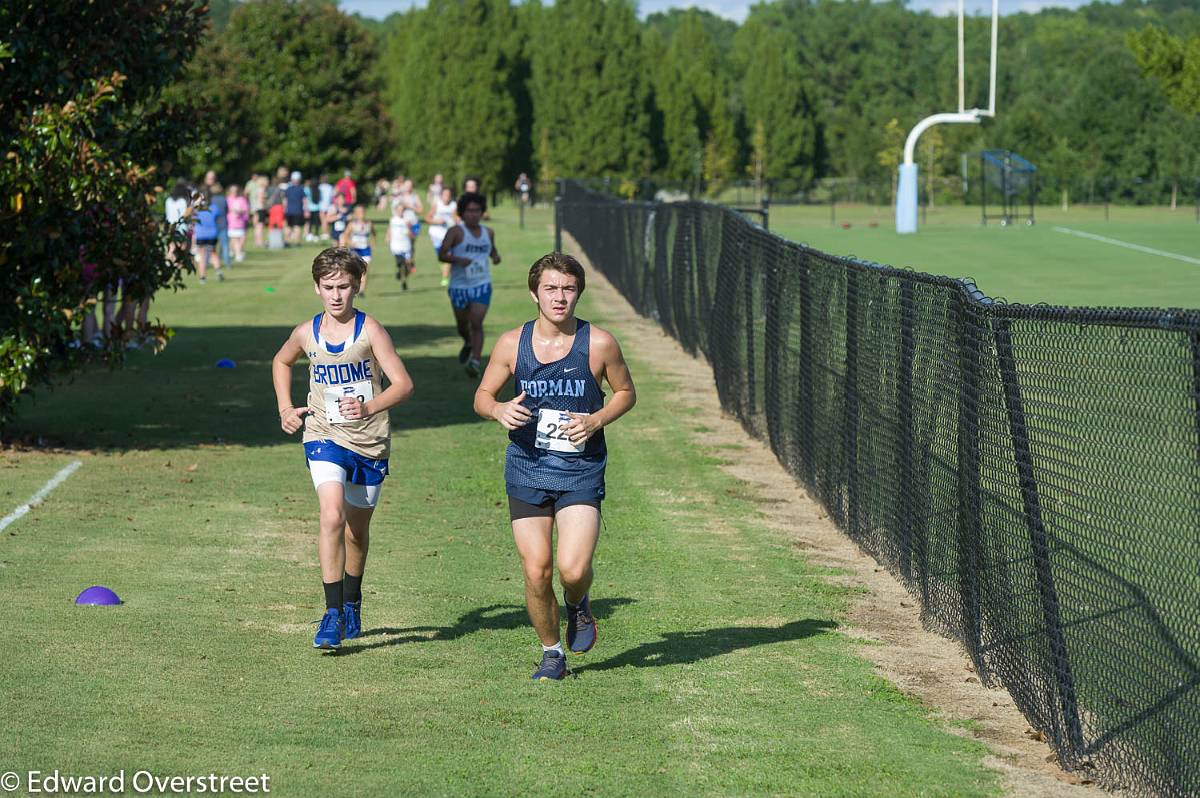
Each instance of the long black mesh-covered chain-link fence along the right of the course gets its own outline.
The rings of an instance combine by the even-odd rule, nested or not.
[[[572,182],[558,215],[1064,767],[1200,794],[1200,312],[992,302]]]

